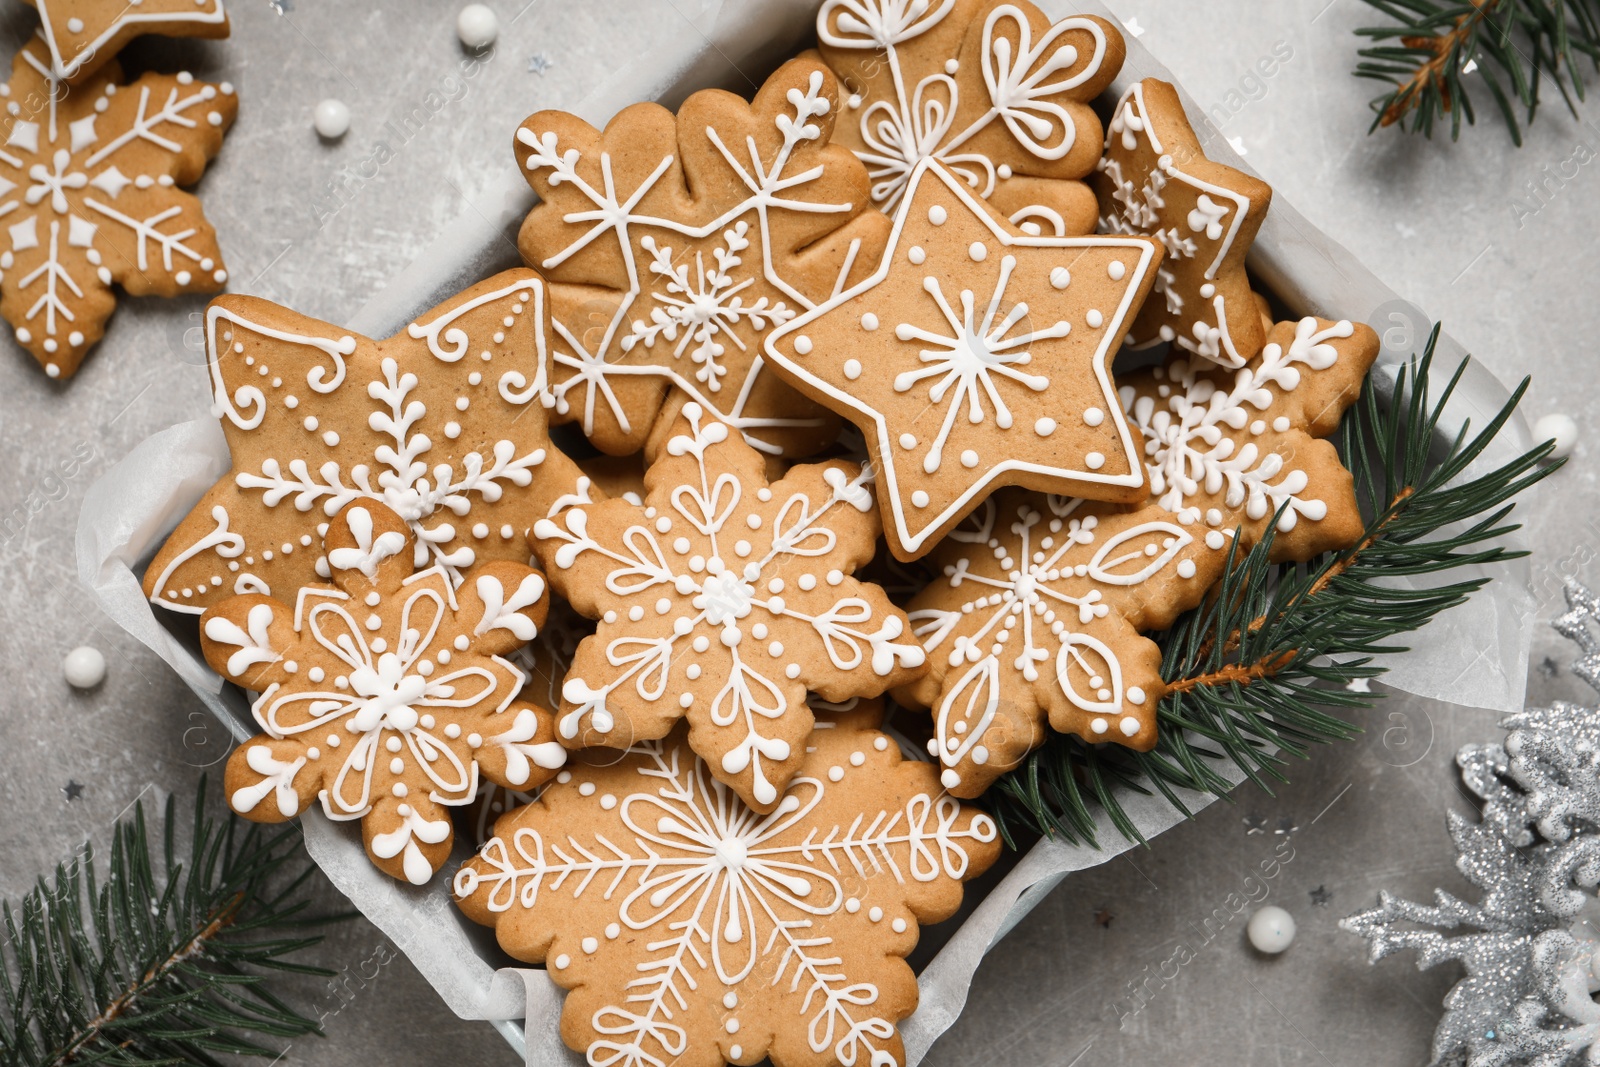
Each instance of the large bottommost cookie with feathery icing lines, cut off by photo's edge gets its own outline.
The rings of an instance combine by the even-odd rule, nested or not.
[[[590,1064],[901,1064],[904,957],[1000,843],[875,725],[821,713],[771,814],[682,726],[579,761],[462,864],[458,904],[568,990],[562,1038]]]

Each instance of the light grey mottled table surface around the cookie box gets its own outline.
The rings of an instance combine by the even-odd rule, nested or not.
[[[662,0],[664,3],[667,0]],[[1485,122],[1461,144],[1394,131],[1366,136],[1371,90],[1349,77],[1350,29],[1373,21],[1358,0],[1110,0],[1144,43],[1222,125],[1277,195],[1360,256],[1446,326],[1507,384],[1533,374],[1526,411],[1592,424],[1600,387],[1592,336],[1592,246],[1600,176],[1550,178],[1600,126],[1549,106],[1515,150]],[[234,35],[218,43],[142,43],[134,66],[190,66],[230,78],[242,109],[200,194],[222,234],[232,290],[330,320],[347,318],[466,208],[490,176],[512,166],[510,131],[539,107],[571,106],[618,64],[650,48],[606,5],[501,0],[493,58],[462,80],[458,5],[440,0],[336,3],[235,0]],[[19,45],[34,14],[0,10],[0,40]],[[1290,50],[1270,78],[1258,59]],[[530,61],[544,56],[542,74]],[[445,101],[403,144],[386,125],[429,93]],[[354,125],[318,142],[310,112],[344,99]],[[1486,98],[1480,101],[1488,106]],[[1600,118],[1600,101],[1586,112]],[[394,158],[366,182],[354,168],[379,139]],[[1592,152],[1590,152],[1592,158]],[[342,184],[342,200],[331,195]],[[1544,203],[1528,182],[1546,182]],[[1522,208],[1518,210],[1518,205]],[[1558,272],[1566,270],[1563,277]],[[99,616],[75,577],[74,530],[88,485],[147,435],[206,410],[198,346],[202,299],[123,299],[78,376],[48,381],[21,350],[0,358],[0,894],[32,880],[109,825],[136,798],[189,793],[226,737],[154,654]],[[94,459],[75,477],[53,472],[74,448]],[[1600,584],[1595,552],[1597,450],[1520,509],[1531,528],[1542,617],[1560,608],[1560,577]],[[16,509],[21,509],[18,512]],[[13,533],[14,531],[14,533]],[[1426,640],[1426,635],[1424,635]],[[109,677],[72,691],[61,657],[101,648]],[[1592,699],[1566,670],[1565,641],[1534,635],[1528,699]],[[1440,885],[1474,893],[1453,867],[1446,809],[1469,805],[1454,750],[1499,737],[1494,715],[1390,696],[1360,717],[1366,736],[1317,752],[1277,797],[1242,789],[1194,822],[1102,869],[1070,878],[989,957],[966,1016],[930,1064],[1419,1064],[1459,971],[1416,973],[1408,958],[1378,968],[1339,917],[1379,888],[1421,899]],[[213,774],[213,793],[214,793]],[[82,798],[62,787],[85,784]],[[219,801],[219,797],[216,797]],[[1248,833],[1245,819],[1264,819]],[[1277,833],[1288,830],[1291,833]],[[1285,837],[1290,843],[1285,846]],[[1205,920],[1275,849],[1291,859],[1267,881],[1270,901],[1299,923],[1278,958],[1253,953],[1243,920],[1206,937]],[[1283,851],[1278,853],[1285,854]],[[1312,891],[1322,888],[1314,904]],[[323,888],[331,897],[331,889]],[[330,899],[331,905],[333,901]],[[1110,917],[1107,920],[1107,917]],[[1213,920],[1211,929],[1216,929]],[[1168,966],[1179,942],[1195,950]],[[342,969],[338,984],[302,982],[296,1003],[325,1016],[328,1040],[291,1049],[315,1064],[510,1064],[486,1024],[453,1017],[387,941],[365,923],[339,928],[310,958]],[[376,977],[360,979],[358,974]],[[1147,981],[1149,979],[1149,981]],[[1152,997],[1118,1025],[1133,984]]]

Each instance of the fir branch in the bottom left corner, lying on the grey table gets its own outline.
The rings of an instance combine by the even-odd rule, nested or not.
[[[18,1067],[221,1064],[274,1056],[256,1037],[322,1033],[267,985],[267,973],[333,974],[288,957],[315,945],[306,861],[294,827],[267,830],[205,811],[195,797],[187,861],[174,801],[152,859],[144,805],[117,822],[106,880],[93,846],[5,902],[0,1059]]]

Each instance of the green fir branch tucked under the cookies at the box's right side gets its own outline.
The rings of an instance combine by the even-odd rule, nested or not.
[[[1440,453],[1438,422],[1467,365],[1435,398],[1429,368],[1437,342],[1438,326],[1422,357],[1400,368],[1389,403],[1379,403],[1368,381],[1341,426],[1339,451],[1368,517],[1363,536],[1342,552],[1282,566],[1269,560],[1270,533],[1243,553],[1235,539],[1216,593],[1157,635],[1168,681],[1155,749],[1130,752],[1051,734],[986,797],[1008,843],[1050,833],[1094,845],[1096,808],[1126,838],[1142,840],[1117,787],[1158,792],[1187,816],[1176,790],[1226,795],[1232,790],[1221,774],[1226,763],[1270,793],[1274,781],[1286,781],[1288,757],[1306,758],[1312,744],[1358,733],[1336,712],[1371,702],[1373,694],[1346,686],[1381,675],[1376,656],[1405,651],[1395,638],[1427,625],[1488,581],[1397,589],[1384,579],[1525,555],[1496,542],[1518,528],[1507,522],[1512,498],[1560,467],[1560,461],[1546,462],[1554,443],[1466,477],[1528,382],[1488,426],[1475,434],[1462,426]]]

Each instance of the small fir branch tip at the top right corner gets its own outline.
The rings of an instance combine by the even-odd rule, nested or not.
[[[1450,117],[1450,139],[1461,120],[1477,122],[1466,78],[1483,78],[1512,141],[1522,146],[1518,110],[1533,122],[1539,88],[1549,80],[1576,117],[1584,99],[1579,58],[1600,70],[1600,0],[1366,0],[1394,19],[1357,29],[1373,42],[1358,51],[1355,77],[1390,88],[1371,101],[1368,133],[1400,126],[1434,136]]]

